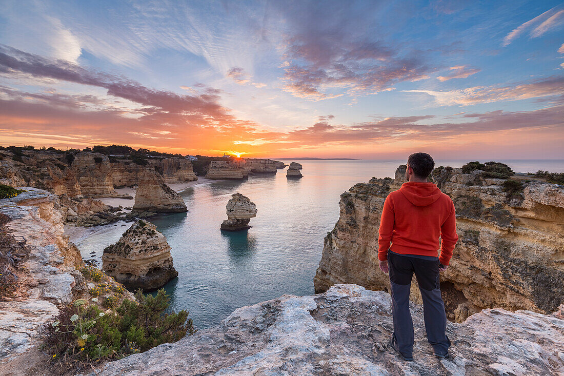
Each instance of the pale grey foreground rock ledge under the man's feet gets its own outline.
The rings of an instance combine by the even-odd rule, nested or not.
[[[557,375],[564,372],[564,321],[486,309],[447,323],[450,355],[426,341],[420,305],[413,358],[390,348],[390,296],[355,285],[314,296],[283,295],[236,309],[220,325],[108,363],[91,376],[144,375]]]

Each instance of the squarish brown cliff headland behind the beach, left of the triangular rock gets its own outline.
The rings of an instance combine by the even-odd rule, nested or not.
[[[80,152],[74,155],[72,169],[76,174],[83,195],[112,197],[112,169],[107,156],[99,153]]]

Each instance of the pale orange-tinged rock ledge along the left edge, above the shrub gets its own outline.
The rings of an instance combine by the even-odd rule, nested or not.
[[[21,293],[0,302],[0,360],[34,346],[39,327],[58,313],[58,306],[70,303],[80,287],[75,267],[82,258],[63,234],[58,197],[33,187],[19,189],[25,192],[0,200],[0,213],[10,218],[5,229],[22,237],[29,251],[21,264]]]

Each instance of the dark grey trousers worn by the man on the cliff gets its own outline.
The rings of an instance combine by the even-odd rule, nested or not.
[[[394,336],[399,351],[407,357],[413,355],[413,321],[409,312],[409,290],[413,274],[417,278],[423,299],[423,317],[427,340],[435,352],[447,353],[450,346],[445,333],[447,315],[440,296],[439,261],[437,257],[399,255],[388,251],[391,285],[391,304],[394,317]]]

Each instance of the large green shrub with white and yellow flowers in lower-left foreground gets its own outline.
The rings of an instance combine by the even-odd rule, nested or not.
[[[42,327],[44,351],[52,361],[70,368],[122,358],[196,333],[187,311],[165,313],[170,304],[164,290],[154,297],[138,290],[135,298],[124,300],[116,313],[105,314],[84,300],[61,309]]]

